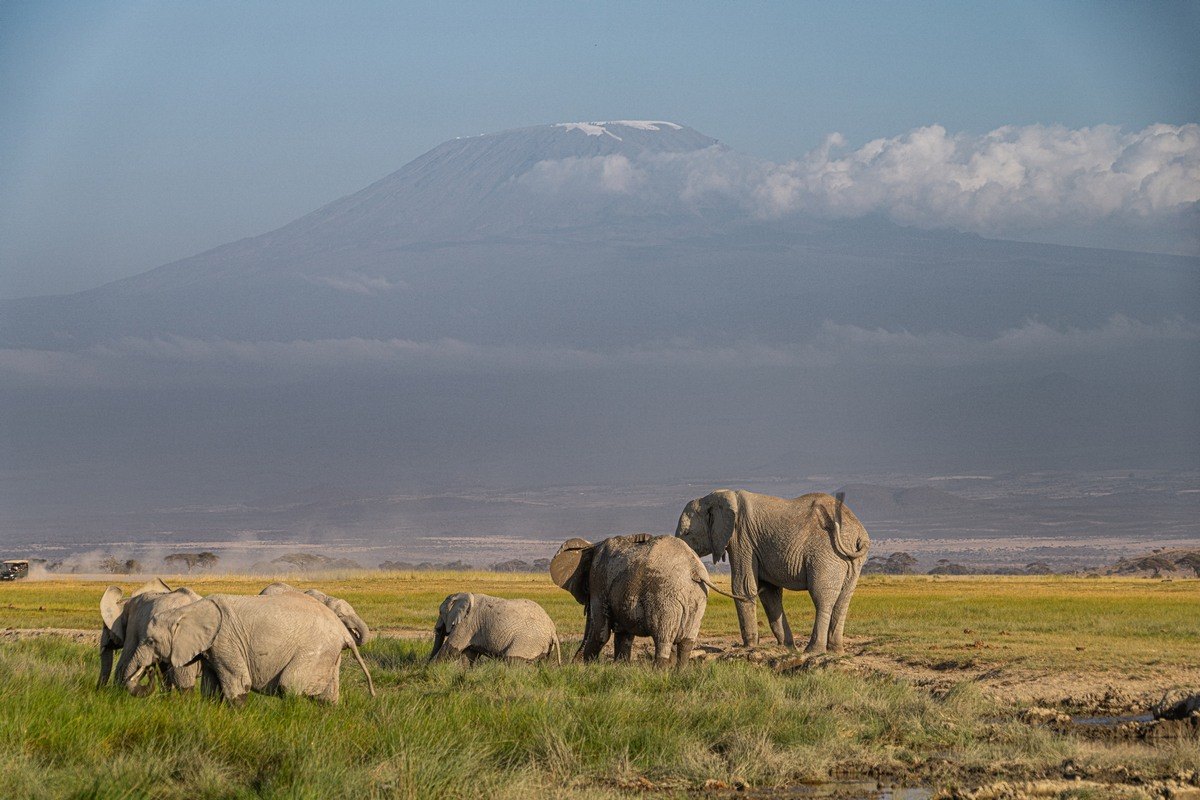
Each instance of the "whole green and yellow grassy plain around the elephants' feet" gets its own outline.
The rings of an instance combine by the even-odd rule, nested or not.
[[[163,577],[202,595],[270,582]],[[739,646],[732,602],[710,595],[682,670],[644,650],[632,664],[425,663],[438,603],[461,590],[536,600],[572,654],[582,608],[545,575],[292,583],[344,597],[379,633],[362,649],[378,698],[353,662],[335,706],[97,690],[107,582],[0,584],[4,793],[1200,798],[1194,724],[1121,723],[1200,691],[1200,579],[871,576],[847,652],[816,658],[767,644],[761,613],[764,644]],[[811,603],[786,606],[802,639]]]

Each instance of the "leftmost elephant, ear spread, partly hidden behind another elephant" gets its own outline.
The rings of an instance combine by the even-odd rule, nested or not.
[[[132,595],[125,597],[120,587],[109,587],[100,599],[100,616],[103,626],[100,631],[100,680],[96,688],[108,685],[113,670],[113,651],[121,650],[116,662],[118,679],[131,694],[140,697],[149,693],[152,686],[140,685],[132,680],[133,652],[142,644],[150,618],[158,613],[180,608],[199,600],[200,596],[187,588],[172,590],[160,578],[139,587]],[[172,667],[166,662],[158,664],[163,684],[168,688],[190,691],[196,686],[200,674],[199,664]],[[155,673],[150,673],[151,676]],[[138,675],[140,679],[140,674]]]

